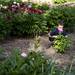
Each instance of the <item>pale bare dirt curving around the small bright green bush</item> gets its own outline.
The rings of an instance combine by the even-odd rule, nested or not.
[[[70,64],[72,62],[72,60],[75,59],[75,34],[71,34],[70,37],[73,41],[72,46],[64,54],[56,53],[52,47],[45,49],[45,54],[48,57],[53,58],[55,60],[55,62],[58,63],[59,65]],[[47,37],[42,37],[42,45],[43,45],[43,47],[47,47],[47,45],[48,45]],[[74,63],[75,63],[75,61],[74,61]]]

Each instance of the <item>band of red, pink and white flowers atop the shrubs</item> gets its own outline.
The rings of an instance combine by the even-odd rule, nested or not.
[[[5,6],[1,4],[1,7],[4,8]],[[44,13],[42,9],[40,10],[40,9],[32,8],[32,5],[30,4],[17,3],[17,2],[8,4],[6,9],[11,12],[23,11],[23,12],[32,13],[32,14],[43,14]]]

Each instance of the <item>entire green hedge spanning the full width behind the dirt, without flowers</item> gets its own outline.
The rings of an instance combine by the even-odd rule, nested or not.
[[[4,0],[3,0],[4,1]],[[73,32],[75,28],[75,7],[32,4],[32,8],[44,10],[42,14],[30,14],[22,11],[12,13],[0,9],[0,38],[8,36],[34,36],[57,26],[59,20],[64,21],[64,28]]]

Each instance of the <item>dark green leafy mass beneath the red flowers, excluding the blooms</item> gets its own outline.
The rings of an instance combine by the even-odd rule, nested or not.
[[[12,13],[3,10],[0,17],[0,38],[10,35],[34,36],[47,31],[47,23],[43,15],[28,13]]]

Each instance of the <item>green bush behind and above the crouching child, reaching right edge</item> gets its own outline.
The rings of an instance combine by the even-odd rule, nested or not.
[[[59,20],[64,20],[64,27],[73,31],[75,26],[75,8],[74,7],[56,7],[45,13],[48,27],[57,26]]]

